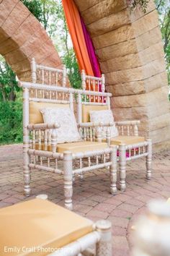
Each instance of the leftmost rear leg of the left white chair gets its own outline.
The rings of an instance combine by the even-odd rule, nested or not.
[[[30,189],[30,155],[28,155],[27,150],[29,149],[28,144],[23,144],[23,162],[24,162],[24,195],[26,197],[30,196],[31,189]]]

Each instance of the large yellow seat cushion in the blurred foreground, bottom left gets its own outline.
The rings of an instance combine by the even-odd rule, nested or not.
[[[48,200],[34,199],[0,210],[0,255],[48,255],[24,252],[32,247],[61,248],[92,231],[93,223]],[[17,252],[4,252],[8,248]]]

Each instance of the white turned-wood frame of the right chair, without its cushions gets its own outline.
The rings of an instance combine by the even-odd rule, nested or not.
[[[94,84],[96,81],[102,82],[102,90],[105,90],[105,78],[104,74],[102,77],[91,77],[85,74],[84,70],[81,72],[82,79],[82,88],[84,91],[86,90],[86,84]],[[90,81],[90,82],[89,82]],[[95,92],[94,92],[95,93]],[[90,101],[82,101],[82,98],[79,97],[77,101],[77,115],[78,115],[78,123],[82,124],[82,106],[107,106],[110,109],[110,98],[112,94],[108,93],[106,98],[102,98],[102,102],[93,102]],[[139,136],[138,126],[140,125],[140,120],[125,120],[125,121],[115,121],[115,126],[119,132],[120,136]],[[108,132],[108,131],[107,131]],[[110,132],[109,132],[110,134]],[[97,136],[98,137],[98,136]],[[107,143],[110,145],[111,137],[106,135]],[[101,138],[98,137],[98,140],[101,141]],[[138,150],[136,150],[138,149]],[[121,191],[125,191],[125,177],[126,177],[126,163],[127,161],[137,159],[140,157],[146,157],[146,179],[151,179],[151,161],[152,161],[152,141],[150,139],[145,142],[139,142],[132,145],[121,144],[117,146],[118,150],[118,158],[119,161],[119,186]],[[128,154],[127,154],[128,153]],[[132,155],[133,153],[133,155]]]

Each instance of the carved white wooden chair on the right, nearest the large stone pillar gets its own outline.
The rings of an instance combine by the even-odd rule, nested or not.
[[[82,88],[91,90],[105,91],[104,74],[102,77],[91,77],[85,74],[84,70],[81,72]],[[99,86],[98,86],[99,85]],[[97,115],[97,121],[104,124],[104,111],[110,110],[110,97],[91,98],[81,97],[77,101],[78,122],[82,124],[91,121],[90,114],[94,112],[93,116]],[[102,111],[102,112],[95,112]],[[93,120],[92,120],[93,121]],[[139,120],[115,121],[115,128],[117,128],[118,135],[110,137],[110,128],[105,129],[105,137],[109,145],[117,145],[117,157],[119,161],[119,179],[120,189],[125,191],[125,177],[126,177],[126,163],[136,158],[146,157],[146,179],[151,179],[151,158],[152,158],[152,142],[145,140],[145,137],[140,137],[138,134]],[[97,136],[98,137],[98,136]],[[98,137],[99,141],[106,142],[105,137]]]

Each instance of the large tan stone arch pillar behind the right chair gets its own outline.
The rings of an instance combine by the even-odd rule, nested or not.
[[[140,119],[156,149],[170,147],[170,104],[158,14],[130,13],[124,0],[75,0],[91,33],[115,119]]]

